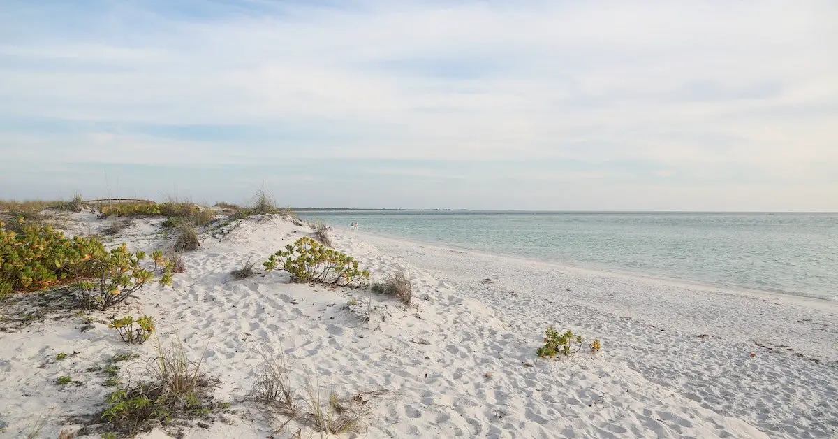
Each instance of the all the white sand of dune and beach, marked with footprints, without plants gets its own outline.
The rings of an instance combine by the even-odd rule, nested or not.
[[[69,233],[112,220],[72,213]],[[162,219],[134,220],[111,239],[165,248]],[[127,345],[113,316],[153,316],[163,342],[190,358],[229,402],[207,419],[139,437],[320,437],[271,414],[248,395],[266,356],[284,357],[290,379],[360,395],[370,414],[345,437],[838,437],[838,303],[681,285],[515,259],[350,230],[334,248],[380,281],[408,269],[414,306],[370,293],[288,282],[282,271],[235,280],[312,229],[277,215],[209,226],[184,253],[171,287],[147,286],[95,321],[75,310],[0,332],[0,437],[78,431],[113,389],[94,370],[116,353],[130,382],[154,343]],[[9,310],[3,308],[4,317]],[[369,318],[367,318],[369,315]],[[538,358],[555,325],[602,350]],[[56,355],[68,357],[57,360]],[[78,384],[59,386],[60,376]],[[85,433],[85,431],[82,431]],[[96,433],[79,437],[98,437]]]

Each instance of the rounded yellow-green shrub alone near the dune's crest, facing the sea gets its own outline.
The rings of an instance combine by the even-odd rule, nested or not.
[[[282,267],[291,274],[292,282],[347,286],[360,285],[370,277],[370,271],[360,269],[358,261],[351,256],[323,247],[308,237],[288,244],[285,250],[272,254],[263,265],[267,271]]]

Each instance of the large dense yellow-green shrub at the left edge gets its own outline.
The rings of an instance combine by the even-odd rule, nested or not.
[[[0,222],[0,279],[13,290],[44,290],[59,282],[93,277],[86,261],[106,253],[96,238],[65,238],[52,227],[27,224],[23,233]]]

